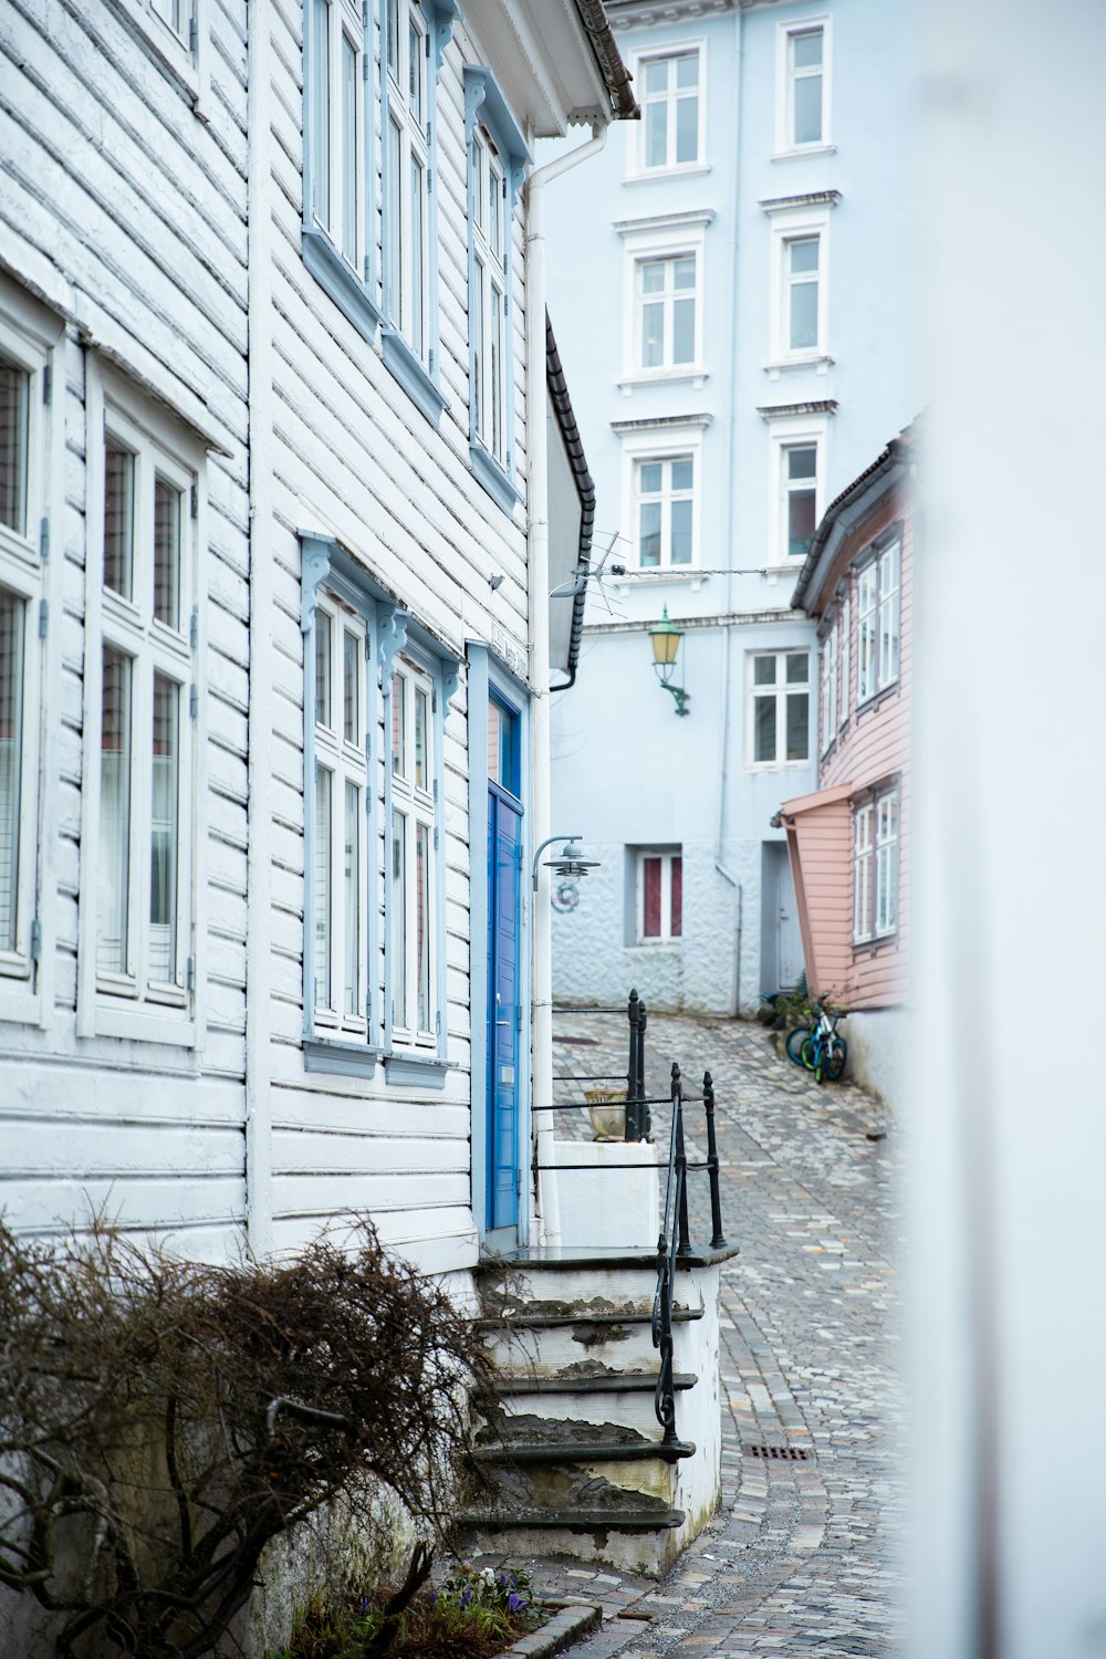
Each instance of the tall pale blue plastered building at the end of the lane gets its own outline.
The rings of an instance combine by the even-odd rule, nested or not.
[[[607,13],[643,118],[551,202],[607,557],[580,682],[554,698],[554,816],[600,859],[554,917],[554,987],[754,1012],[803,969],[769,823],[816,776],[816,642],[794,579],[824,506],[922,401],[912,8]],[[663,607],[685,635],[686,718],[650,667]]]

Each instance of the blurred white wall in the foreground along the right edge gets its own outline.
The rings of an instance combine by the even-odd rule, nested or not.
[[[1106,1647],[1106,566],[1073,488],[1106,446],[1104,51],[1079,0],[929,8],[919,1659]]]

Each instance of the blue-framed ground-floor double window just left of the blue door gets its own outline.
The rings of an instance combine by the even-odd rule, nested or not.
[[[333,538],[300,541],[303,1063],[363,1077],[383,1057],[388,1082],[441,1087],[448,1067],[441,766],[459,660]],[[396,730],[403,733],[398,770]],[[373,994],[381,977],[383,999]]]

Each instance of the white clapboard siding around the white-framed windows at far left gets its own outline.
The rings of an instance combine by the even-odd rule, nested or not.
[[[53,479],[46,682],[58,765],[43,778],[40,1025],[0,1025],[0,1208],[50,1231],[90,1206],[176,1234],[194,1256],[242,1239],[245,712],[249,617],[245,0],[206,0],[202,116],[139,25],[99,0],[0,12],[0,262],[66,327]],[[76,1035],[85,742],[88,353],[104,347],[226,453],[206,468],[201,559],[206,776],[199,1055]],[[60,571],[60,574],[58,574]],[[91,642],[91,649],[96,644]]]

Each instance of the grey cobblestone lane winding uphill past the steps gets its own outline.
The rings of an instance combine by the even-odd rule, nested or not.
[[[625,1019],[557,1014],[557,1100],[579,1098],[574,1077],[625,1072]],[[721,1284],[723,1500],[660,1584],[551,1561],[532,1563],[536,1583],[604,1604],[579,1659],[895,1656],[899,1146],[887,1112],[854,1085],[819,1088],[756,1024],[650,1015],[647,1058],[650,1095],[668,1093],[673,1058],[688,1080],[715,1078],[723,1226],[741,1249]],[[696,1113],[686,1108],[698,1130]],[[667,1112],[657,1117],[665,1145]],[[559,1118],[559,1133],[582,1133],[582,1113]],[[698,1133],[688,1156],[705,1156]],[[691,1183],[691,1241],[706,1241],[706,1178]],[[764,1462],[753,1445],[808,1460]]]

